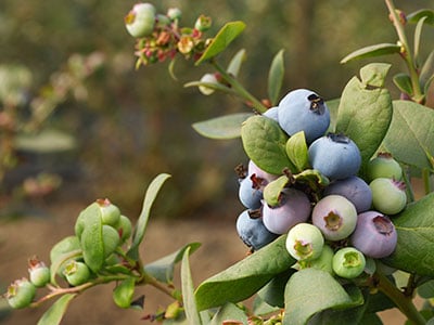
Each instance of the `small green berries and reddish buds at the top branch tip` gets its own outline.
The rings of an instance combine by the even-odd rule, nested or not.
[[[151,3],[137,3],[125,16],[128,32],[137,39],[137,67],[174,58],[178,53],[186,58],[202,55],[209,40],[203,38],[212,20],[200,15],[193,27],[181,27],[181,11],[169,9],[157,13]]]

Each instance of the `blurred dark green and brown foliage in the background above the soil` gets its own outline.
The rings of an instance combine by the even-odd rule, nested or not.
[[[178,60],[178,80],[170,78],[167,62],[136,70],[135,40],[124,26],[133,3],[0,2],[0,214],[68,200],[85,206],[108,197],[137,216],[145,185],[159,172],[174,176],[159,198],[159,216],[240,211],[233,168],[246,162],[241,142],[203,139],[191,123],[246,107],[225,95],[203,96],[183,88],[210,72],[206,64],[192,68],[191,61]],[[340,65],[342,57],[397,39],[378,0],[153,4],[159,12],[181,9],[186,26],[202,13],[209,15],[210,36],[229,21],[244,21],[246,30],[219,60],[226,65],[246,49],[240,79],[259,99],[266,95],[269,64],[281,49],[283,89],[306,87],[331,100],[367,63]],[[397,0],[396,5],[412,12],[432,9],[433,1]],[[432,30],[427,32],[432,41]],[[403,68],[399,57],[384,61],[394,63],[395,72]]]

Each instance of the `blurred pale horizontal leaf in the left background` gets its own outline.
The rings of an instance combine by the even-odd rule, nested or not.
[[[44,154],[74,150],[76,141],[71,134],[58,130],[43,130],[37,134],[16,136],[14,146],[23,151]]]

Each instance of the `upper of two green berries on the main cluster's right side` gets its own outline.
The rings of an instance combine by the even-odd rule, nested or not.
[[[403,168],[391,154],[380,153],[367,165],[368,182],[379,178],[394,179],[399,181],[403,178]]]

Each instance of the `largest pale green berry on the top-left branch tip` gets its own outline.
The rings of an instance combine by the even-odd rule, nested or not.
[[[155,8],[151,3],[137,3],[125,16],[128,32],[136,38],[150,36],[155,25]]]

